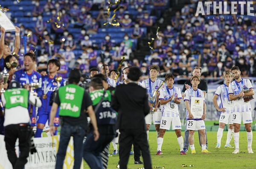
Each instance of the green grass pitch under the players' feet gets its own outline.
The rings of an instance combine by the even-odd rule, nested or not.
[[[184,134],[184,133],[182,133]],[[208,150],[212,154],[201,154],[201,147],[198,143],[198,133],[195,132],[195,150],[198,154],[187,155],[179,154],[179,146],[175,132],[166,132],[164,136],[162,151],[163,155],[155,155],[157,150],[156,132],[149,132],[149,146],[151,152],[152,166],[164,166],[165,169],[182,169],[181,164],[193,164],[192,169],[256,169],[256,141],[253,140],[254,154],[247,152],[247,136],[246,132],[240,132],[240,153],[232,154],[233,149],[224,149],[226,143],[227,132],[223,133],[221,140],[221,149],[215,149],[217,132],[207,132]],[[253,132],[256,135],[256,132]],[[231,145],[234,146],[233,139]],[[113,146],[110,145],[110,152],[113,152]],[[130,156],[128,169],[138,169],[143,165],[134,164],[133,155]],[[118,155],[109,157],[108,169],[116,169]],[[141,160],[142,157],[141,157]],[[89,169],[84,161],[84,169]]]

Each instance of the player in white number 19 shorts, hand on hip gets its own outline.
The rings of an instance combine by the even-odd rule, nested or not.
[[[221,148],[221,138],[223,134],[223,130],[226,124],[229,124],[229,129],[227,132],[227,141],[225,144],[225,148],[234,148],[230,145],[230,141],[233,137],[233,122],[232,122],[232,113],[234,103],[229,100],[228,96],[228,86],[233,79],[232,73],[227,71],[223,74],[225,84],[221,85],[217,88],[213,96],[213,104],[218,112],[221,112],[219,119],[219,128],[217,132],[217,145],[215,148]],[[220,105],[217,103],[217,99],[220,99]]]

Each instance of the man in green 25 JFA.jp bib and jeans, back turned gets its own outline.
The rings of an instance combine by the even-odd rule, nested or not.
[[[92,107],[92,101],[89,94],[80,87],[81,72],[79,69],[72,69],[70,71],[68,82],[69,84],[60,87],[56,95],[55,101],[52,104],[50,114],[50,132],[51,135],[55,133],[53,125],[55,115],[60,106],[59,115],[61,117],[61,136],[56,156],[55,169],[62,169],[67,151],[67,146],[70,137],[73,136],[74,140],[74,169],[80,169],[82,161],[83,140],[87,130],[87,115],[90,116],[93,125],[94,140],[98,140],[99,132],[96,122],[95,113]]]

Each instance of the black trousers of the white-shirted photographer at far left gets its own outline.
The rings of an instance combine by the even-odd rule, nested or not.
[[[4,141],[9,161],[13,169],[23,169],[29,156],[29,142],[31,130],[29,126],[20,126],[17,124],[8,125],[5,128]],[[20,156],[17,158],[15,153],[15,142],[19,138]]]

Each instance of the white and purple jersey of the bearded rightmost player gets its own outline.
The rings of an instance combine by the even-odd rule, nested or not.
[[[234,80],[228,87],[228,93],[238,95],[244,87],[248,87],[249,90],[253,89],[249,79],[241,79],[240,82]],[[234,100],[234,112],[248,112],[251,110],[250,101],[244,102],[243,98]]]

